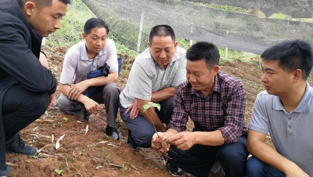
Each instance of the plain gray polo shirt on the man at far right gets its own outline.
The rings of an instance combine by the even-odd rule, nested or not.
[[[309,83],[290,113],[279,97],[266,91],[258,94],[249,129],[266,135],[269,132],[277,152],[313,176],[313,88]]]

